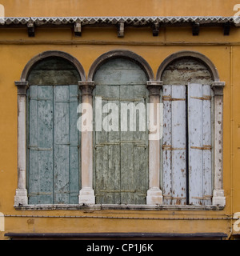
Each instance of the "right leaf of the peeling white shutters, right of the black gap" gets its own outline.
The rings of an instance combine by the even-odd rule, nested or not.
[[[211,103],[210,86],[188,85],[189,200],[210,204]]]

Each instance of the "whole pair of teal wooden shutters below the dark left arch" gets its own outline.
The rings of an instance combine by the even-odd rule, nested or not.
[[[30,204],[78,203],[78,86],[30,86]]]

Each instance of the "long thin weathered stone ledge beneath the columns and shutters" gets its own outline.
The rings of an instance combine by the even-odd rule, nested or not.
[[[168,206],[168,205],[20,205],[16,210],[223,210],[224,206]]]

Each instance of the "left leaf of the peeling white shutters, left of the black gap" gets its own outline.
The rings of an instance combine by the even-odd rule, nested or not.
[[[166,204],[186,204],[186,86],[163,86],[163,191]]]

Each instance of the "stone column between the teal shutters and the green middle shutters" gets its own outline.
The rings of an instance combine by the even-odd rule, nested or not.
[[[93,118],[93,90],[94,82],[78,82],[80,90],[82,90],[82,104],[90,104],[91,113],[90,120]],[[83,109],[82,109],[83,113]],[[95,196],[93,189],[93,122],[90,122],[88,130],[82,131],[82,189],[79,192],[79,204],[95,204]]]

